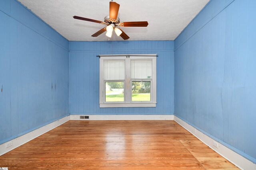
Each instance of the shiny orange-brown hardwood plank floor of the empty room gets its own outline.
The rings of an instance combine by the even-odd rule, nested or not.
[[[175,121],[68,121],[0,156],[12,169],[207,169],[236,167]]]

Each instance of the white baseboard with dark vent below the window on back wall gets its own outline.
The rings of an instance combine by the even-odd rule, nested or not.
[[[174,115],[87,115],[89,119],[80,119],[84,115],[70,115],[70,120],[173,120]]]

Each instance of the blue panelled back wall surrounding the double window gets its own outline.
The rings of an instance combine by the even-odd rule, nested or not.
[[[174,41],[104,41],[70,44],[70,114],[174,113]],[[158,54],[156,107],[100,108],[100,54]]]

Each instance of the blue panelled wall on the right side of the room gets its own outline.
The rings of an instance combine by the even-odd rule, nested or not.
[[[175,115],[254,163],[255,9],[212,0],[175,40]]]

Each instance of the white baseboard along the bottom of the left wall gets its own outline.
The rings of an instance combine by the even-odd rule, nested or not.
[[[0,156],[27,143],[28,141],[31,141],[32,139],[35,139],[36,137],[39,137],[40,135],[58,127],[59,125],[62,125],[63,123],[69,121],[69,119],[70,119],[70,116],[63,117],[57,121],[49,123],[48,125],[40,127],[32,132],[26,133],[25,135],[22,135],[20,137],[12,139],[11,141],[1,144],[0,145]],[[9,143],[12,143],[12,146],[6,148],[6,146]]]

